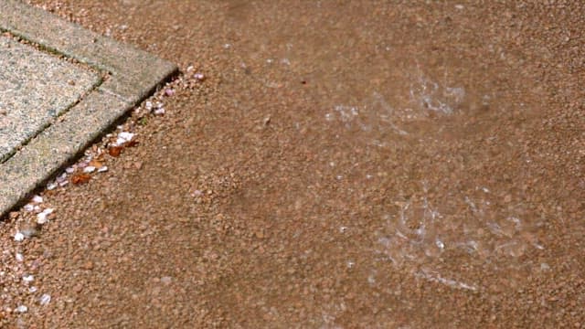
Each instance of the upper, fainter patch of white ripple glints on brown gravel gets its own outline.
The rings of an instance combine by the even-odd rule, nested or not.
[[[463,122],[490,107],[493,96],[488,92],[472,92],[412,70],[416,74],[402,74],[402,84],[374,90],[358,103],[336,104],[324,120],[332,129],[343,127],[348,138],[385,147],[405,139],[452,139]]]

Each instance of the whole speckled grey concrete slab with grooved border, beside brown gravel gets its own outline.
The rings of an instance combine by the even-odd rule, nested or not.
[[[16,0],[0,0],[0,32],[31,44],[0,37],[3,217],[177,68]]]

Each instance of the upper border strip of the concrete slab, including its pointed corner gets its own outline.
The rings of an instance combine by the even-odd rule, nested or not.
[[[112,79],[101,88],[130,103],[143,100],[156,84],[176,71],[168,61],[17,0],[0,2],[0,28],[110,72]]]

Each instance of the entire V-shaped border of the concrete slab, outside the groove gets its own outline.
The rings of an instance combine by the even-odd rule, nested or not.
[[[0,0],[0,29],[110,74],[96,90],[0,164],[0,219],[157,87],[175,64],[102,37],[40,8]]]

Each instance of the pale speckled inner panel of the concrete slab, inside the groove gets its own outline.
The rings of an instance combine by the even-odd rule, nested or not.
[[[100,82],[95,72],[0,37],[0,163]]]

